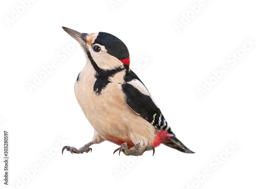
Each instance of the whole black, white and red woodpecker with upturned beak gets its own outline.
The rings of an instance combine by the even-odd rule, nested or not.
[[[77,40],[87,63],[75,82],[76,99],[94,128],[91,142],[73,153],[88,153],[93,144],[110,141],[125,155],[142,155],[160,144],[184,153],[194,153],[182,144],[139,77],[130,69],[125,44],[114,35],[79,33],[62,27]]]

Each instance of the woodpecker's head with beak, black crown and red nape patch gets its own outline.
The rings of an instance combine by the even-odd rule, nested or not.
[[[86,34],[62,29],[79,42],[97,72],[129,68],[129,51],[117,37],[104,32]]]

